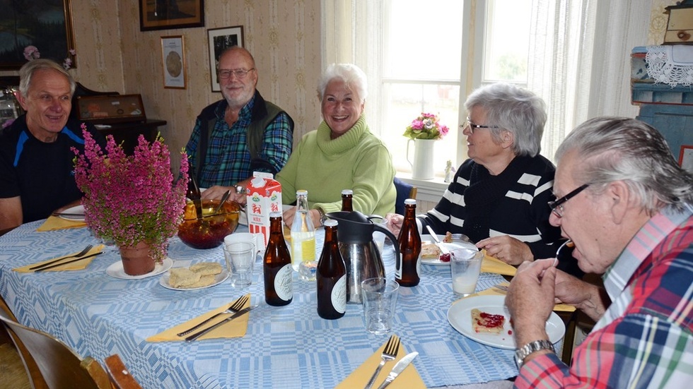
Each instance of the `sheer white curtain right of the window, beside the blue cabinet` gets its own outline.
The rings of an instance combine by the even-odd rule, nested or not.
[[[535,0],[528,88],[547,102],[542,154],[602,115],[635,117],[630,53],[647,41],[651,0]]]

